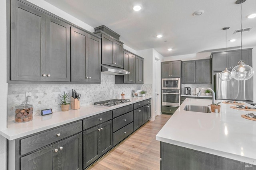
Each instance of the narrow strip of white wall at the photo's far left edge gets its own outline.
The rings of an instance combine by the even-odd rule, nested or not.
[[[1,57],[1,67],[0,67],[0,129],[6,128],[7,121],[7,83],[6,83],[6,0],[0,1],[0,57]],[[0,136],[0,169],[6,170],[7,162],[7,141],[4,137]]]

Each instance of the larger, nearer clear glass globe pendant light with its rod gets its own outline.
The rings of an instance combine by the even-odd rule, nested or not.
[[[242,30],[242,3],[245,2],[246,0],[237,0],[236,4],[240,4],[240,8],[241,8],[241,12],[240,12],[240,25],[241,25],[241,30]],[[242,31],[241,31],[241,59],[242,59]],[[253,70],[251,66],[248,66],[245,64],[244,61],[239,61],[238,65],[235,66],[232,71],[231,74],[233,76],[234,79],[236,80],[248,80],[250,78],[252,78],[253,76]]]

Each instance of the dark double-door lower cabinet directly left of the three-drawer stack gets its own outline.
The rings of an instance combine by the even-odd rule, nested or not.
[[[113,147],[112,120],[83,132],[84,168]]]

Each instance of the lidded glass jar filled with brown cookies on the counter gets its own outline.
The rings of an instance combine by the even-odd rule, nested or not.
[[[15,106],[15,122],[23,123],[31,121],[33,119],[33,110],[32,104],[27,104],[27,102],[22,102],[22,104]]]

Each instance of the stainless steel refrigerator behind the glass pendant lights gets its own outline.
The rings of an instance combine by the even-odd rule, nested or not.
[[[220,80],[219,75],[220,73],[214,75],[216,99],[253,102],[253,77],[243,81],[232,78],[232,80],[225,82]]]

